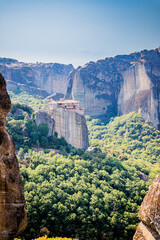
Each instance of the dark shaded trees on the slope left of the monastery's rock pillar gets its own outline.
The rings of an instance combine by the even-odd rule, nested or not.
[[[63,137],[48,136],[48,126],[45,123],[36,126],[35,112],[33,109],[22,103],[12,102],[11,115],[7,118],[6,125],[8,133],[13,138],[16,149],[21,149],[21,154],[31,148],[60,149],[63,154],[69,153],[72,149]],[[23,150],[23,151],[22,151]]]

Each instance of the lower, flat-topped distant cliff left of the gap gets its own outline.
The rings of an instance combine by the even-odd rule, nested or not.
[[[69,74],[72,70],[73,66],[71,64],[23,63],[14,59],[0,58],[0,72],[4,75],[5,79],[23,84],[26,88],[25,91],[28,91],[27,85],[46,90],[48,94],[56,92],[65,94]],[[8,85],[10,89],[11,82],[8,82]]]

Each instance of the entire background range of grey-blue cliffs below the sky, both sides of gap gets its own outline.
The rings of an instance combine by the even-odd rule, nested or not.
[[[59,92],[67,99],[80,100],[87,115],[114,116],[141,109],[142,116],[160,129],[160,47],[89,62],[77,69],[0,58],[0,72],[12,81],[8,86],[25,84],[44,89],[46,95]]]

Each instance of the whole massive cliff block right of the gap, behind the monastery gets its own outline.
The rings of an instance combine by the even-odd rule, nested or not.
[[[66,99],[80,100],[91,116],[141,109],[159,128],[160,48],[89,62],[70,74]]]

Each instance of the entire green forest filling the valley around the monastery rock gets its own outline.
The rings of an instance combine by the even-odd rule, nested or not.
[[[56,133],[48,137],[47,125],[36,127],[36,97],[26,106],[26,93],[10,96],[7,130],[18,151],[28,214],[21,239],[47,228],[49,237],[131,240],[139,206],[160,171],[160,132],[140,111],[109,122],[86,116],[93,151],[77,150]]]

